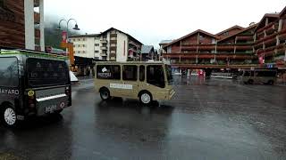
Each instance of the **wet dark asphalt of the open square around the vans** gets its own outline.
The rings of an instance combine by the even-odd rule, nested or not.
[[[173,100],[101,101],[92,80],[62,116],[0,127],[0,159],[286,159],[286,87],[176,77]]]

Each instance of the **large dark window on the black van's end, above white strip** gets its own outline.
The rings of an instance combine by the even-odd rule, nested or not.
[[[29,58],[27,60],[29,86],[68,84],[69,68],[62,60]]]

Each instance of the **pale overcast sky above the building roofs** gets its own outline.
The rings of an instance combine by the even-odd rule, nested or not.
[[[83,33],[118,28],[156,47],[200,28],[216,34],[248,27],[266,12],[281,12],[285,0],[44,0],[46,20],[74,18]],[[71,27],[70,27],[71,28]]]

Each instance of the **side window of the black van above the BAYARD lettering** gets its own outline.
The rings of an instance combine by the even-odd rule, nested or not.
[[[15,57],[0,58],[0,86],[18,86],[18,60]]]

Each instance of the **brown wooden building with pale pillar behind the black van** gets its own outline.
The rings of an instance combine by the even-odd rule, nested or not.
[[[45,51],[44,0],[0,0],[0,46]]]

